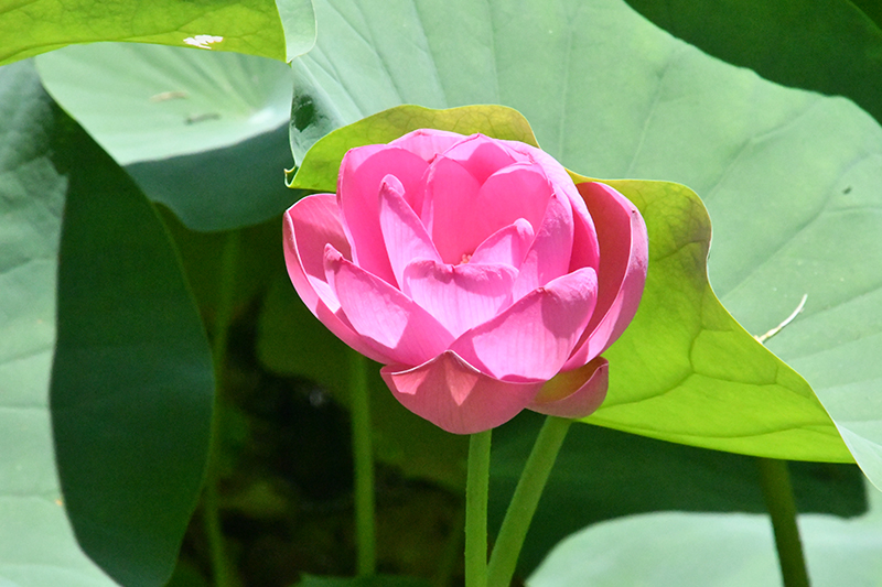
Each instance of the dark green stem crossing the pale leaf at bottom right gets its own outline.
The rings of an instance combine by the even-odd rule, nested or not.
[[[775,531],[775,547],[785,587],[808,587],[803,544],[796,525],[796,503],[793,498],[787,461],[757,458],[760,485]]]

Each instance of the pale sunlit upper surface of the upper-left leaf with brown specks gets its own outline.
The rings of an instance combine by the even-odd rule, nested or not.
[[[99,43],[41,55],[55,100],[120,165],[229,146],[288,122],[290,69],[236,53]]]

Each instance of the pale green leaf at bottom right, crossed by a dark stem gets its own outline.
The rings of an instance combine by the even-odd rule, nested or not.
[[[879,585],[882,494],[852,520],[799,517],[811,585]],[[652,513],[588,528],[561,542],[529,587],[781,586],[767,515]]]

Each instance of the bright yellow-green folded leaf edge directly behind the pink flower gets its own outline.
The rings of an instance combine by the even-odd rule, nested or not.
[[[473,111],[493,112],[481,118]],[[495,128],[476,124],[494,120]],[[508,124],[503,121],[509,120]],[[388,127],[398,126],[395,133]],[[377,132],[372,133],[373,127]],[[333,191],[346,145],[384,142],[413,127],[531,140],[508,108],[387,110],[320,140],[294,176],[295,187]],[[301,183],[306,177],[309,183]],[[574,176],[577,182],[588,181]],[[649,273],[641,308],[606,352],[610,392],[589,422],[695,446],[800,460],[851,457],[811,388],[727,313],[707,279],[710,220],[687,187],[609,182],[641,210],[649,232]]]

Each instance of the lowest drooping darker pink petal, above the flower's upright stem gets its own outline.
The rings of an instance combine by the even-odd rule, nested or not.
[[[452,350],[409,370],[384,367],[380,376],[405,407],[453,434],[474,434],[508,422],[544,383],[499,381]]]

